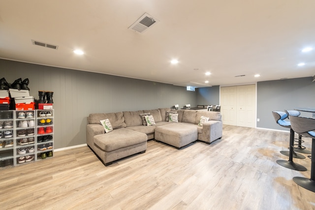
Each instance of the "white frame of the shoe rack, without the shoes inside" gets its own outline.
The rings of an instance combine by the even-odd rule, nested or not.
[[[6,113],[4,113],[6,112]],[[32,112],[33,113],[33,118],[18,118],[18,113],[20,112]],[[39,117],[39,113],[40,112],[51,112],[52,116],[51,117]],[[4,113],[4,115],[3,115]],[[12,116],[12,118],[10,119],[2,119],[2,116],[5,116],[7,113],[9,113],[10,116]],[[53,151],[54,150],[54,110],[50,109],[50,110],[5,110],[5,111],[0,111],[0,122],[4,122],[4,121],[12,121],[13,124],[13,128],[4,128],[4,126],[0,129],[0,132],[5,132],[5,131],[12,131],[13,136],[11,138],[5,138],[4,136],[2,138],[0,138],[0,141],[6,141],[6,142],[10,142],[13,141],[13,146],[11,147],[5,147],[3,146],[2,148],[0,148],[0,169],[4,169],[4,168],[9,168],[9,167],[14,167],[14,166],[19,166],[19,165],[24,165],[24,164],[28,164],[28,163],[32,163],[35,161],[39,161],[39,160],[45,160],[45,159],[41,159],[40,155],[43,152],[49,152],[49,151]],[[47,119],[51,119],[51,124],[49,125],[40,125],[38,124],[39,120],[47,120]],[[23,121],[23,120],[34,120],[34,126],[30,127],[19,127],[19,122]],[[43,127],[44,129],[46,129],[47,127],[51,126],[52,127],[52,132],[51,133],[45,133],[45,134],[38,134],[37,130],[39,127]],[[27,130],[32,129],[33,131],[33,135],[28,136]],[[18,136],[18,132],[20,130],[26,130],[26,136]],[[49,141],[46,142],[37,142],[37,137],[39,136],[45,136],[45,135],[51,135],[53,138],[50,139]],[[21,139],[24,138],[34,138],[34,142],[27,144],[27,145],[19,145],[18,142]],[[46,149],[46,150],[39,150],[38,146],[40,145],[44,145],[44,144],[49,144],[51,143],[53,145],[52,149]],[[34,151],[33,152],[26,152],[26,154],[19,154],[18,150],[20,148],[28,148],[28,147],[34,147]],[[24,162],[24,163],[19,163],[18,159],[21,156],[27,156],[27,155],[34,155],[34,159],[32,159],[29,162]],[[46,159],[49,159],[51,157],[48,157]],[[8,165],[8,163],[10,163],[10,165]]]

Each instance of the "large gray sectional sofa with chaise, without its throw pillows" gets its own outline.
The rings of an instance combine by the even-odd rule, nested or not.
[[[165,121],[168,112],[177,112],[178,122]],[[143,125],[140,114],[150,113],[155,124]],[[201,117],[209,121],[199,126]],[[113,130],[105,133],[100,120],[108,119]],[[161,108],[154,110],[125,111],[117,113],[90,114],[87,124],[87,145],[95,152],[105,166],[113,161],[147,149],[147,141],[166,143],[177,149],[196,140],[210,144],[222,137],[222,120],[220,112],[207,110],[171,110]]]

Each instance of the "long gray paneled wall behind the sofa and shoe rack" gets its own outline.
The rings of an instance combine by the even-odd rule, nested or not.
[[[196,106],[186,87],[0,59],[0,78],[8,83],[29,78],[30,95],[54,91],[55,149],[86,143],[90,113]]]

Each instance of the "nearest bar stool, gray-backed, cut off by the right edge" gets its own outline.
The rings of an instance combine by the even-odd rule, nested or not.
[[[315,192],[315,119],[290,116],[292,129],[312,138],[311,178],[293,177],[293,181],[305,189]]]

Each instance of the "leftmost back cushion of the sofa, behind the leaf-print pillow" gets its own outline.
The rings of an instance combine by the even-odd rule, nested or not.
[[[90,114],[88,122],[89,124],[101,124],[99,120],[105,119],[110,121],[113,129],[126,127],[123,112]]]

